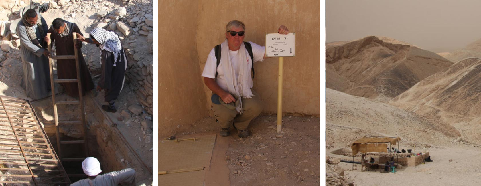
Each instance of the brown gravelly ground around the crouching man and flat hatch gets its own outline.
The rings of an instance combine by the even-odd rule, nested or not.
[[[228,167],[231,186],[315,186],[320,184],[319,118],[313,116],[284,116],[282,137],[276,137],[276,116],[260,116],[249,128],[253,136],[239,138],[232,131],[227,142],[217,136],[216,143],[228,143],[227,151],[211,160]],[[196,133],[218,134],[219,125],[213,118],[204,118],[192,125],[178,126],[176,135]],[[159,138],[174,134],[160,134]],[[221,139],[219,139],[221,138]],[[159,149],[161,151],[161,149]],[[214,153],[225,150],[214,147]],[[248,155],[246,159],[246,155]],[[225,161],[229,156],[230,160]],[[159,160],[160,161],[160,160]],[[220,162],[219,162],[220,161]],[[220,166],[219,169],[222,169]],[[218,166],[216,166],[218,167]],[[212,168],[211,168],[212,170]],[[226,169],[227,170],[227,169]],[[227,179],[226,177],[216,179]],[[210,182],[206,176],[206,183]],[[220,186],[220,185],[219,185]]]

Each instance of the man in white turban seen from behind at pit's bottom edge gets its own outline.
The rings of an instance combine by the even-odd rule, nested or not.
[[[78,180],[70,186],[135,186],[135,170],[131,168],[99,175],[102,170],[97,158],[88,157],[82,162],[87,179]]]

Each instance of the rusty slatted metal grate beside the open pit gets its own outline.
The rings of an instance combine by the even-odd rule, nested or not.
[[[28,100],[0,96],[0,185],[70,185]]]

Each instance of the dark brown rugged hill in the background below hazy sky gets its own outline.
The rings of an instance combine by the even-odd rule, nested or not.
[[[326,87],[387,102],[451,64],[436,53],[389,37],[332,42],[326,44]]]

